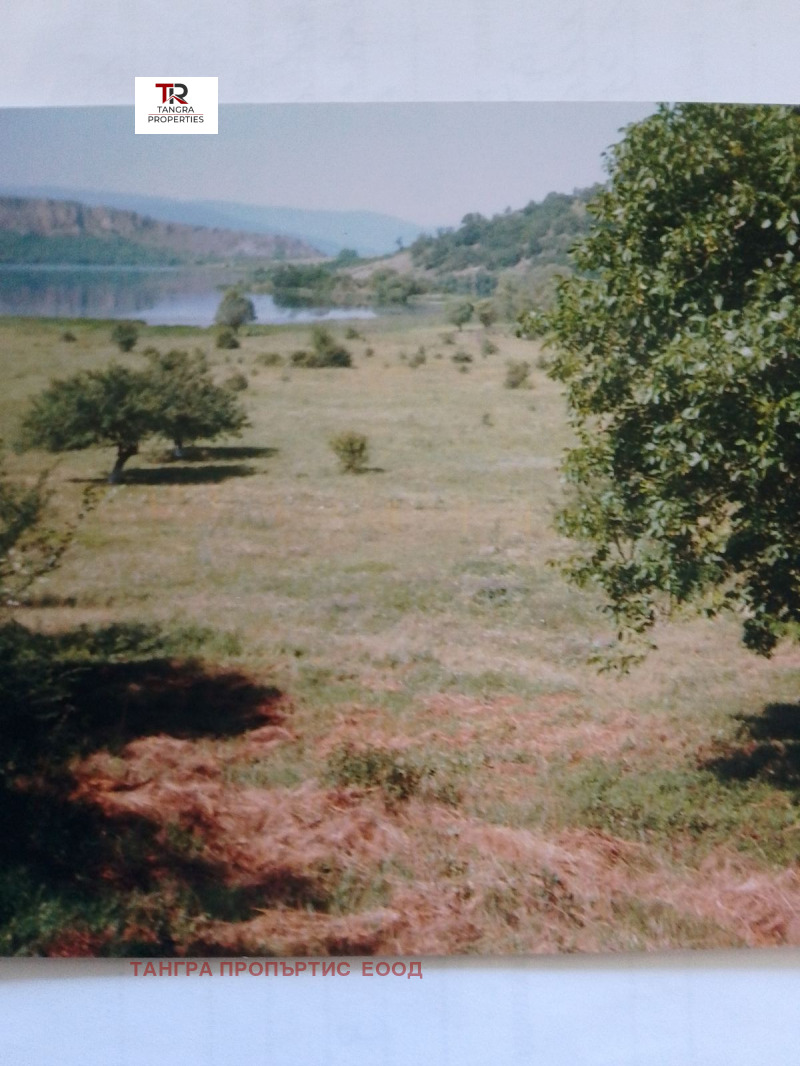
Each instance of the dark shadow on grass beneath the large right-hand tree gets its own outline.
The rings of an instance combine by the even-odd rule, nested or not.
[[[704,763],[725,781],[762,780],[800,790],[800,704],[768,704],[761,714],[739,715],[735,742]]]

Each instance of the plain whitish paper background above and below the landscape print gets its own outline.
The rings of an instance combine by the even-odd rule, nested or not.
[[[791,102],[791,0],[29,0],[0,107],[130,104],[146,69],[220,102]],[[133,124],[131,122],[131,136]],[[133,978],[2,959],[3,1066],[752,1066],[794,1062],[800,951],[431,959],[423,980]]]

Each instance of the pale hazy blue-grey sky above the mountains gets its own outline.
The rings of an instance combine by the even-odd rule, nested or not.
[[[604,177],[650,103],[229,104],[217,135],[135,135],[132,108],[0,110],[0,187],[363,209],[426,227]]]

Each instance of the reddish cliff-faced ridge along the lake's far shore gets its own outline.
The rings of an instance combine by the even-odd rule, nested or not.
[[[319,258],[302,241],[162,222],[78,200],[0,196],[0,261],[191,262]]]

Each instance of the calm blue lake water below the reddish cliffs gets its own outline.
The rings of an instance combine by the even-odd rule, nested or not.
[[[0,314],[141,319],[148,325],[210,326],[233,274],[118,266],[0,266]],[[251,296],[262,324],[371,319],[368,307],[279,307]]]

